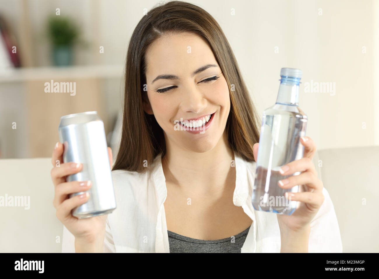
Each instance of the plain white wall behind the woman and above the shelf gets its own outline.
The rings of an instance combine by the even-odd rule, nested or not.
[[[17,9],[20,0],[10,6]],[[166,1],[167,2],[167,1]],[[9,16],[17,11],[3,5]],[[158,1],[30,0],[37,66],[49,65],[48,44],[40,40],[44,19],[61,8],[75,17],[92,43],[78,49],[80,64],[123,64],[128,41]],[[282,67],[303,70],[300,107],[309,117],[307,135],[318,149],[379,144],[378,1],[191,1],[221,25],[260,115],[271,106]],[[231,9],[235,15],[231,15]],[[322,15],[319,15],[319,8]],[[375,21],[374,21],[375,20]],[[16,23],[15,23],[16,24]],[[376,25],[375,25],[376,24]],[[376,27],[375,27],[376,26]],[[105,53],[99,54],[99,46]],[[278,47],[279,53],[274,52]],[[362,53],[362,47],[366,53]],[[305,93],[304,83],[335,82],[336,92]],[[366,128],[363,129],[363,123]]]

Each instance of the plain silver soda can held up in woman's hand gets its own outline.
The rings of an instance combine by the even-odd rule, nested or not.
[[[89,192],[88,201],[74,208],[72,215],[82,219],[111,213],[116,198],[103,121],[96,111],[69,114],[61,117],[58,132],[64,145],[63,162],[83,164],[81,172],[67,176],[67,182],[92,182],[85,191]],[[70,194],[70,198],[85,192]]]

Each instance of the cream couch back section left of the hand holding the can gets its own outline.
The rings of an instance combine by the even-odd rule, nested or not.
[[[52,168],[51,158],[0,160],[0,196],[27,197],[23,206],[1,207],[0,252],[61,252],[63,224],[53,206]]]

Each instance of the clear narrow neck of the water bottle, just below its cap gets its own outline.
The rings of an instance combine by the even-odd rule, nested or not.
[[[296,77],[281,76],[276,103],[290,106],[299,106],[300,79]]]

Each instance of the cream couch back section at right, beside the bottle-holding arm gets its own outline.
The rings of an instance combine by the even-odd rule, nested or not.
[[[378,252],[379,146],[324,149],[318,159],[340,227],[343,252]]]

